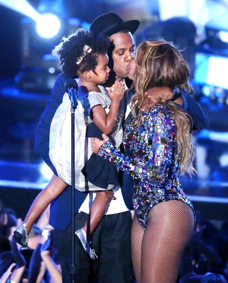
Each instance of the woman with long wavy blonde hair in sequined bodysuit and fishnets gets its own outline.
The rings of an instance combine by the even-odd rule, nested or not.
[[[178,180],[179,174],[195,172],[191,117],[163,99],[154,99],[150,108],[144,93],[169,86],[190,95],[189,68],[172,43],[145,41],[136,50],[129,78],[135,95],[124,153],[104,134],[103,141],[93,139],[93,150],[134,178],[132,261],[137,283],[175,283],[195,224],[193,206]]]

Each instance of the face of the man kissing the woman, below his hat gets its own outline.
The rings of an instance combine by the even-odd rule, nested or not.
[[[115,33],[109,38],[115,46],[112,53],[115,77],[116,79],[127,78],[131,61],[135,55],[135,43],[132,34],[130,32]]]

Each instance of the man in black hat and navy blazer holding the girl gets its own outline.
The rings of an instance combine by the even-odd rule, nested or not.
[[[138,20],[124,22],[117,14],[111,12],[96,18],[90,30],[95,34],[109,36],[113,41],[113,51],[110,56],[110,67],[113,76],[109,75],[108,86],[113,88],[115,82],[128,77],[129,67],[135,53],[135,44],[132,34],[139,26]],[[112,78],[111,78],[112,77]],[[112,81],[113,79],[113,81]],[[49,134],[52,118],[62,103],[65,93],[65,81],[61,74],[57,77],[52,90],[51,99],[43,112],[39,125],[37,126],[35,149],[41,155],[47,165],[57,175],[56,169],[49,159]],[[153,92],[153,97],[155,96]],[[157,92],[159,96],[159,91]],[[132,93],[127,89],[124,99],[121,101],[119,113],[125,115],[128,102]],[[173,94],[168,88],[167,97],[172,98]],[[181,98],[179,98],[181,99]],[[184,99],[185,101],[185,99]],[[197,104],[197,103],[195,103]],[[196,126],[205,127],[207,123],[203,110],[199,106],[196,114]],[[191,108],[191,107],[190,107]],[[76,110],[77,111],[77,110]],[[200,122],[202,121],[202,122]],[[90,261],[81,244],[76,242],[76,282],[99,282],[127,283],[131,282],[131,244],[130,232],[132,217],[132,185],[126,182],[115,191],[115,201],[111,201],[106,215],[101,220],[92,237],[92,245],[97,261]],[[127,183],[127,186],[125,186]],[[124,187],[124,189],[123,189]],[[126,188],[125,188],[126,187]],[[51,203],[49,223],[55,229],[55,240],[59,250],[59,258],[62,265],[63,282],[71,281],[71,187],[68,186],[63,193]],[[88,218],[89,213],[88,194],[75,190],[75,230],[81,229]]]

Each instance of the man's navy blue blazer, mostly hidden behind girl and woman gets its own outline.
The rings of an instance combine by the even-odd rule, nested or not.
[[[45,163],[52,169],[54,174],[57,175],[56,169],[49,158],[49,134],[52,118],[62,103],[62,98],[65,91],[66,78],[62,74],[59,74],[56,78],[54,88],[51,92],[51,98],[48,101],[48,105],[44,110],[40,122],[36,128],[35,137],[35,150],[43,158]],[[208,116],[203,107],[201,107],[193,97],[189,96],[185,92],[181,91],[183,96],[182,107],[193,118],[193,130],[204,129],[208,125]],[[132,178],[124,174],[123,185],[121,186],[124,202],[129,210],[133,209],[132,206]],[[85,200],[87,193],[75,190],[75,211],[78,211],[81,204]],[[58,231],[64,231],[71,223],[71,186],[68,186],[61,195],[59,195],[51,203],[50,219],[49,223]]]

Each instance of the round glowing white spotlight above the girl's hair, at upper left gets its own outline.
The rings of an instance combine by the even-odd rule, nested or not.
[[[60,29],[60,20],[53,14],[43,14],[37,21],[37,33],[44,38],[55,36]]]

